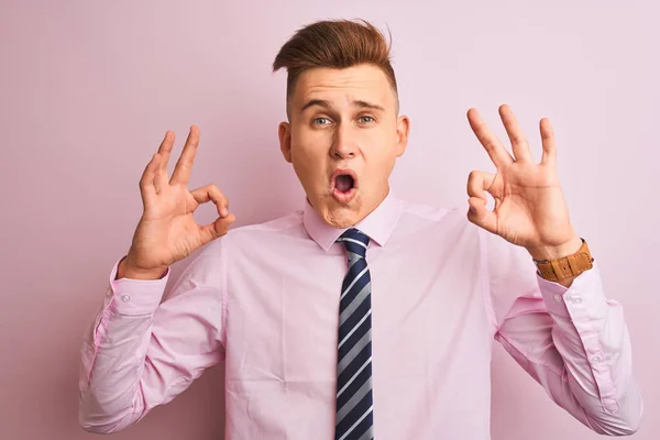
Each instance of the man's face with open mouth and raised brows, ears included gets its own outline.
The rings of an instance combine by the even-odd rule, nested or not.
[[[319,67],[299,76],[279,144],[315,210],[329,224],[349,228],[387,196],[408,130],[380,68]]]

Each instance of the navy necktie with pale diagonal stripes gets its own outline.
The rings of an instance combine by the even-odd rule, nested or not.
[[[352,228],[337,241],[346,249],[349,271],[339,305],[336,440],[373,439],[371,276],[369,237]]]

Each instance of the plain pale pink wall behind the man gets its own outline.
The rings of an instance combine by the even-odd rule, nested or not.
[[[510,103],[537,158],[538,120],[553,122],[573,222],[627,312],[646,405],[636,438],[658,438],[660,8],[429,3],[1,2],[1,439],[92,437],[77,425],[80,338],[130,245],[138,180],[166,130],[178,157],[188,127],[200,127],[190,189],[220,186],[238,224],[301,206],[276,136],[285,74],[270,65],[302,24],[358,16],[394,36],[402,111],[413,121],[392,178],[400,196],[468,209],[469,172],[492,170],[466,123],[470,107],[505,139],[497,106]],[[213,209],[197,218],[211,221]],[[493,439],[600,438],[498,345],[493,370]],[[209,370],[113,438],[221,439],[222,373]]]

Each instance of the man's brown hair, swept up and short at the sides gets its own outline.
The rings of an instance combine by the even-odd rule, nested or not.
[[[366,20],[326,20],[298,30],[282,46],[273,62],[273,72],[287,70],[286,100],[296,80],[305,70],[315,67],[346,68],[359,64],[372,64],[381,68],[397,94],[396,77],[391,64],[392,34],[389,43],[376,26]],[[398,98],[397,98],[398,112]]]

